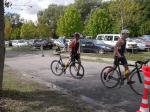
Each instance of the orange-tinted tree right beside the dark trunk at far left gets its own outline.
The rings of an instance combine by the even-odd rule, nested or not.
[[[5,19],[5,40],[11,39],[12,24],[11,21]]]

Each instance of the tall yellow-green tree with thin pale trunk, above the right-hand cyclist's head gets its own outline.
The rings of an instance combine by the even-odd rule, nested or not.
[[[140,9],[140,4],[135,0],[110,1],[108,10],[114,23],[113,32],[119,33],[122,28],[128,28],[136,35],[139,31],[134,29],[140,25]]]

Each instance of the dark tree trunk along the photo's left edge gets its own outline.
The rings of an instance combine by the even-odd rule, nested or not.
[[[5,60],[4,27],[4,0],[0,0],[0,91],[2,90]]]

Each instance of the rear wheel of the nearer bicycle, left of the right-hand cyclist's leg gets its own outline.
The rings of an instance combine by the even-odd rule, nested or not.
[[[107,88],[114,88],[120,82],[119,72],[112,66],[103,68],[100,75],[103,85]]]

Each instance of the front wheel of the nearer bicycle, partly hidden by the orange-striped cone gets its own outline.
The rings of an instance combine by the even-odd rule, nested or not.
[[[134,91],[134,93],[136,93],[137,95],[143,95],[143,90],[144,90],[144,74],[143,72],[140,70],[140,76],[142,79],[142,83],[140,83],[139,79],[138,79],[138,74],[137,71],[134,72],[131,76],[130,76],[130,81],[135,81],[134,84],[130,84],[130,88]]]

